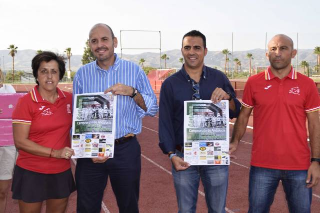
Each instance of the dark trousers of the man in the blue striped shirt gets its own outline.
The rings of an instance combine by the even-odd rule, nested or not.
[[[103,191],[110,178],[119,213],[138,213],[141,149],[136,137],[114,146],[114,156],[104,163],[78,159],[75,169],[77,213],[100,213]]]

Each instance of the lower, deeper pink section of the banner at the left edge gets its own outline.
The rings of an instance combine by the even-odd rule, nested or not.
[[[12,120],[0,119],[0,147],[13,145]]]

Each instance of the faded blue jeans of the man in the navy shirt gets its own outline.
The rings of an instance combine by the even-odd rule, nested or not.
[[[177,155],[183,154],[177,152]],[[191,166],[177,172],[172,165],[172,176],[178,213],[195,213],[200,178],[208,213],[225,213],[228,166]]]

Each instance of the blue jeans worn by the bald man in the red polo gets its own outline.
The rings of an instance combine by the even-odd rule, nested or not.
[[[268,213],[279,181],[290,213],[310,213],[312,190],[306,188],[307,170],[276,170],[251,166],[248,213]]]

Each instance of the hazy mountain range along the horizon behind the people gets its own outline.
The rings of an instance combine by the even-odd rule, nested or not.
[[[72,50],[71,50],[72,52]],[[247,53],[251,53],[253,60],[251,60],[251,66],[264,66],[264,49],[251,49],[245,51],[234,51],[233,59],[238,58],[241,61],[242,70],[248,70],[249,60],[246,57]],[[17,53],[14,57],[14,70],[23,70],[26,72],[31,71],[31,59],[36,54],[36,50],[17,49]],[[180,68],[181,63],[179,58],[182,57],[181,51],[179,49],[173,49],[169,51],[161,52],[161,54],[166,54],[169,59],[166,60],[167,68]],[[118,54],[120,56],[120,54]],[[82,55],[72,55],[70,59],[71,70],[76,71],[81,64]],[[144,66],[151,66],[155,68],[160,68],[160,53],[154,52],[144,52],[140,54],[122,54],[122,58],[125,60],[130,60],[138,64],[139,59],[143,58],[145,62]],[[229,55],[229,69],[231,69],[231,55]],[[305,60],[309,63],[310,67],[316,64],[316,55],[313,54],[313,49],[299,49],[298,50],[298,63]],[[3,70],[12,70],[12,57],[9,55],[8,50],[0,50],[0,68]],[[225,56],[221,51],[207,51],[207,55],[204,57],[204,64],[211,67],[216,67],[217,69],[224,70]],[[295,65],[296,58],[292,60]],[[268,65],[268,60],[266,59],[266,65]],[[66,67],[68,68],[68,61],[66,61]],[[235,63],[233,62],[233,69]],[[161,59],[161,68],[164,68],[164,60]]]

